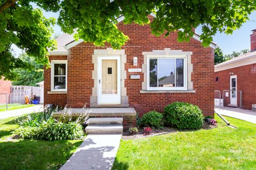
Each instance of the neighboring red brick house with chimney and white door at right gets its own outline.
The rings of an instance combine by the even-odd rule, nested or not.
[[[252,109],[256,104],[256,29],[251,34],[251,52],[215,65],[215,90],[224,92],[224,106]],[[242,95],[240,95],[242,91]],[[226,95],[227,93],[227,95]]]

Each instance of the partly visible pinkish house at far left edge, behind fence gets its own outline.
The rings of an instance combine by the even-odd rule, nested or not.
[[[12,82],[8,80],[4,80],[4,78],[0,77],[0,104],[6,103],[6,95],[10,94],[11,92],[11,86]],[[9,98],[9,95],[7,95],[7,100]]]

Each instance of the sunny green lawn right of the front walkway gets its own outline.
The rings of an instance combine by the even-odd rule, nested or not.
[[[122,140],[112,169],[255,169],[256,124],[227,117],[211,130]]]

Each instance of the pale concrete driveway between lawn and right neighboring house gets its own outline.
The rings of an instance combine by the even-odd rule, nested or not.
[[[224,116],[234,117],[247,122],[256,123],[256,112],[254,111],[233,107],[224,107],[223,110],[215,108],[214,110],[215,112]]]

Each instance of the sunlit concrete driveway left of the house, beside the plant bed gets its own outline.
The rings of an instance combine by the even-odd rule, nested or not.
[[[26,107],[26,108],[15,109],[12,111],[4,111],[4,112],[0,112],[0,119],[20,116],[26,113],[42,112],[43,109],[44,109],[44,105],[35,105],[31,107]]]

